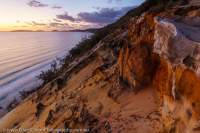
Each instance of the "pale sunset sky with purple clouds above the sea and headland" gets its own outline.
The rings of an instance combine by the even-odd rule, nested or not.
[[[110,24],[144,0],[2,0],[0,31],[73,30]]]

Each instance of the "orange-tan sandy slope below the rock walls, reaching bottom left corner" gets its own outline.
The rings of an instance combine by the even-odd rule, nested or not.
[[[0,129],[48,127],[91,128],[101,132],[158,132],[160,114],[157,113],[154,90],[147,88],[136,94],[123,88],[120,92],[113,92],[118,95],[112,98],[109,93],[117,86],[114,85],[117,83],[116,65],[100,70],[102,64],[101,59],[93,60],[74,73],[63,89],[58,90],[56,84],[46,85],[3,117]],[[39,103],[42,104],[40,108]],[[85,120],[83,114],[87,114]]]

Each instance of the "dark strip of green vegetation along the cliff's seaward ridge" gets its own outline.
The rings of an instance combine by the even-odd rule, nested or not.
[[[175,1],[178,0],[146,0],[140,6],[130,10],[115,23],[107,25],[99,30],[95,30],[90,38],[84,38],[79,44],[72,48],[63,59],[59,59],[59,65],[54,61],[51,68],[47,71],[42,71],[38,78],[43,81],[43,85],[54,80],[68,68],[71,62],[91,50],[100,40],[112,33],[115,29],[127,29],[127,22],[130,18],[139,16],[146,11],[164,10],[166,5],[172,4]]]

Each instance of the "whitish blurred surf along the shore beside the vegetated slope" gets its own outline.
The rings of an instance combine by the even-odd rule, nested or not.
[[[77,33],[78,33],[77,35],[79,35],[79,32]],[[85,35],[89,36],[89,34],[85,34]],[[81,41],[81,38],[79,41]],[[74,46],[75,45],[76,43],[74,44]],[[11,77],[10,76],[4,77],[1,82],[2,84],[0,85],[1,86],[0,87],[1,88],[0,107],[2,107],[0,109],[1,114],[2,114],[2,110],[4,110],[3,111],[4,113],[8,111],[7,106],[11,105],[12,103],[16,103],[15,99],[17,99],[17,103],[20,103],[22,101],[20,99],[21,97],[20,92],[24,92],[24,91],[29,92],[29,91],[34,90],[35,88],[38,88],[37,86],[41,86],[42,81],[38,79],[37,77],[41,74],[42,71],[49,70],[51,68],[52,63],[55,60],[56,62],[59,62],[58,59],[64,58],[68,52],[69,50],[64,50],[62,53],[59,53],[55,57],[45,62],[43,61],[39,64],[38,63],[34,64],[31,67],[20,69],[15,75],[10,74]]]

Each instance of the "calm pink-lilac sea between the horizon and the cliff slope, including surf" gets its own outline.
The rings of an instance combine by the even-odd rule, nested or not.
[[[0,106],[12,100],[19,91],[40,84],[36,76],[89,35],[81,32],[0,32]]]

